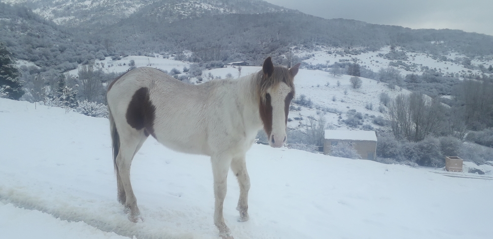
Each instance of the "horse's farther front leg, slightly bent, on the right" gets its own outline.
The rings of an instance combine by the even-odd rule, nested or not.
[[[241,222],[248,221],[248,191],[250,190],[250,177],[246,171],[245,155],[239,158],[233,158],[231,162],[231,170],[238,179],[240,184],[240,199],[238,199],[238,207],[236,208],[240,212]]]

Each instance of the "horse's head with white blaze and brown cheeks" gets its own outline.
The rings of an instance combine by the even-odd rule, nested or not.
[[[300,63],[290,69],[274,66],[271,57],[262,65],[259,112],[271,147],[279,148],[286,143],[287,115],[299,67]]]

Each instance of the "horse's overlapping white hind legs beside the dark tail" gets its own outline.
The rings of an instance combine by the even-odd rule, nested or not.
[[[120,134],[120,136],[122,135]],[[130,209],[130,221],[137,222],[140,218],[140,210],[137,206],[137,199],[132,189],[132,184],[130,183],[130,166],[132,165],[134,155],[141,148],[147,137],[144,135],[143,130],[142,132],[134,131],[127,135],[128,137],[120,138],[120,150],[116,157],[118,201]]]

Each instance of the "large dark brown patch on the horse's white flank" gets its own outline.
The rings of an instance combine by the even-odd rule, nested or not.
[[[144,129],[146,136],[150,134],[156,138],[153,127],[156,118],[156,107],[150,102],[148,91],[145,87],[135,91],[132,100],[128,104],[125,117],[130,126],[137,130]]]

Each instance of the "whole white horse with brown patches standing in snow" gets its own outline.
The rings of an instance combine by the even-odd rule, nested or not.
[[[214,224],[222,238],[232,238],[223,217],[229,167],[240,184],[239,220],[246,221],[250,189],[246,151],[262,125],[270,146],[282,147],[286,142],[287,115],[299,66],[275,67],[269,57],[262,71],[201,85],[185,84],[149,67],[116,78],[109,85],[107,99],[118,202],[130,209],[129,219],[137,222],[140,218],[130,165],[152,135],[170,149],[211,156]]]

